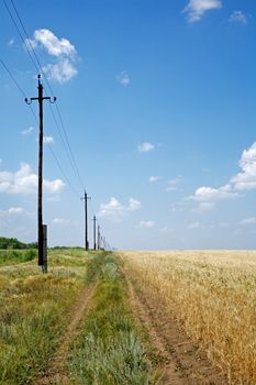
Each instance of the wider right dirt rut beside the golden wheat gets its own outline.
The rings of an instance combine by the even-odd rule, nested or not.
[[[226,385],[227,378],[199,352],[178,321],[167,315],[159,298],[135,284],[123,270],[135,318],[145,327],[163,372],[157,385]]]

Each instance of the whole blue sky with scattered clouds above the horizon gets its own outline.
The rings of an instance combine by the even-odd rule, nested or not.
[[[255,249],[256,4],[15,4],[26,44],[57,97],[82,179],[70,166],[45,102],[49,245],[84,244],[85,187],[92,198],[90,219],[97,215],[112,246]],[[0,58],[25,95],[35,97],[36,70],[3,1],[0,19]],[[45,79],[43,84],[49,95]],[[33,241],[37,123],[1,64],[0,85],[0,234]],[[37,114],[35,102],[33,110]]]

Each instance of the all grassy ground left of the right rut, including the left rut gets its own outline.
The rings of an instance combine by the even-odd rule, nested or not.
[[[51,251],[44,275],[1,257],[0,384],[154,383],[114,255]]]

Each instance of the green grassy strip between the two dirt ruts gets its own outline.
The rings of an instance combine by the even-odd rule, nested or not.
[[[69,371],[76,385],[146,385],[151,380],[136,328],[131,321],[123,283],[113,254],[90,260],[87,279],[100,280],[84,332],[70,350]]]

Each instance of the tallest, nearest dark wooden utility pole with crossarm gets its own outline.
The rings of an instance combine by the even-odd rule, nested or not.
[[[25,102],[31,105],[33,100],[38,100],[40,108],[40,131],[38,131],[38,193],[37,193],[37,234],[38,234],[38,266],[42,266],[43,273],[47,273],[46,251],[44,251],[44,230],[43,230],[43,101],[49,100],[52,103],[56,101],[54,97],[53,101],[49,97],[43,96],[43,86],[41,82],[41,75],[38,75],[38,97],[25,98]]]

